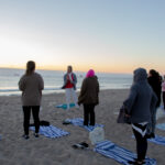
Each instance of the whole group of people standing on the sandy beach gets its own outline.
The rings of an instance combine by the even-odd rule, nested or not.
[[[132,130],[136,140],[138,158],[129,162],[134,165],[142,165],[145,162],[147,151],[147,139],[154,138],[156,123],[156,109],[161,105],[161,89],[165,109],[165,80],[162,81],[156,70],[150,70],[148,75],[144,68],[138,68],[133,73],[133,84],[128,99],[123,102],[125,117],[130,118]],[[95,107],[99,103],[99,82],[95,72],[90,69],[81,85],[79,97],[76,95],[77,77],[73,73],[73,67],[67,67],[64,75],[64,86],[66,91],[66,103],[69,109],[73,97],[76,108],[84,105],[84,125],[95,125]],[[40,129],[40,106],[44,81],[40,74],[35,73],[35,63],[30,61],[26,64],[26,72],[19,81],[22,90],[22,107],[24,114],[24,139],[29,139],[29,125],[31,110],[34,118],[35,133],[38,138]]]

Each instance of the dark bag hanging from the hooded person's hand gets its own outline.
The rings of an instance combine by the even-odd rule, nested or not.
[[[118,123],[128,123],[128,124],[131,124],[131,118],[130,117],[127,117],[127,108],[124,106],[122,106],[120,108],[120,111],[119,111],[119,116],[118,116],[118,119],[117,119],[117,122]]]

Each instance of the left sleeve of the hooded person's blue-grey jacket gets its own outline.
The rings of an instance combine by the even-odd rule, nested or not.
[[[136,86],[133,85],[131,87],[129,98],[123,102],[123,105],[127,108],[129,114],[131,114],[131,110],[132,110],[132,107],[135,102],[136,96],[138,96]]]

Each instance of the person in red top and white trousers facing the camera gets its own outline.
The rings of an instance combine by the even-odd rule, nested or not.
[[[65,89],[67,109],[70,108],[69,105],[72,103],[70,102],[72,97],[74,99],[76,108],[79,108],[79,106],[77,105],[78,99],[76,95],[76,84],[77,84],[76,74],[73,73],[73,67],[68,66],[67,73],[64,75],[64,86],[62,87],[62,89]]]

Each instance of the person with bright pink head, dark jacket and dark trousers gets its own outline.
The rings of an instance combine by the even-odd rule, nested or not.
[[[95,75],[95,72],[90,69],[82,81],[78,98],[78,105],[84,105],[84,125],[95,125],[95,107],[99,103],[98,95],[98,78]]]

